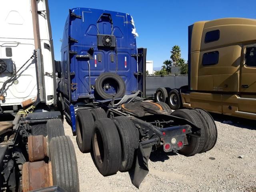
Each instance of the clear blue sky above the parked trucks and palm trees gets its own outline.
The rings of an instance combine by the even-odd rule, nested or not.
[[[60,60],[60,39],[68,9],[87,7],[129,13],[139,37],[137,47],[147,48],[147,60],[154,68],[170,58],[170,49],[179,45],[188,58],[188,26],[201,20],[225,17],[256,19],[256,3],[241,0],[49,0],[55,59]]]

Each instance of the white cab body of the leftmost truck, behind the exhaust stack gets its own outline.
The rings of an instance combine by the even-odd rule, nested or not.
[[[42,81],[45,103],[56,102],[54,50],[47,0],[37,1],[40,44],[43,62]],[[11,5],[11,6],[10,6]],[[21,102],[36,98],[38,94],[35,43],[31,0],[2,0],[0,12],[0,106],[20,108]],[[30,59],[30,60],[29,60]],[[27,61],[28,63],[24,65]],[[22,67],[23,66],[23,67]]]

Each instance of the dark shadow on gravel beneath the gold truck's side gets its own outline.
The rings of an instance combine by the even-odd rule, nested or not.
[[[210,114],[212,115],[215,121],[225,123],[225,124],[230,124],[232,126],[236,126],[239,128],[256,130],[256,120],[238,118],[238,117],[216,114],[216,113],[210,113]],[[231,122],[229,123],[229,121]]]

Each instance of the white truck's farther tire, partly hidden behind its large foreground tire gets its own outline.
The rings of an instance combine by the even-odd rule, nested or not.
[[[52,140],[54,137],[64,136],[64,126],[61,119],[50,119],[46,123],[48,142]]]

